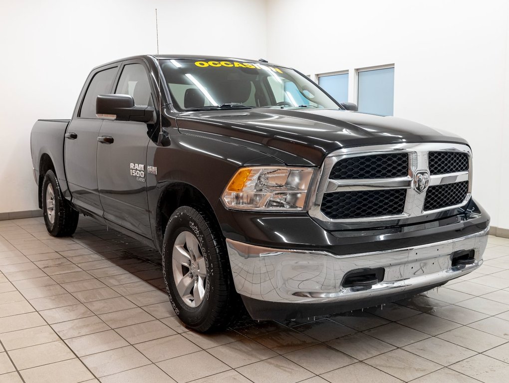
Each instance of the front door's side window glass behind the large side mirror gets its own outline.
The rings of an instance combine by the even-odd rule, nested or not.
[[[122,70],[117,95],[129,95],[136,105],[154,106],[149,78],[142,64],[129,64]]]

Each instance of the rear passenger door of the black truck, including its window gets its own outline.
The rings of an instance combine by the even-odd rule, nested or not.
[[[118,65],[92,72],[88,86],[80,95],[78,105],[66,131],[64,143],[65,169],[73,202],[79,207],[102,216],[97,184],[97,137],[103,120],[96,116],[96,98],[111,93]],[[83,96],[84,93],[84,96]]]

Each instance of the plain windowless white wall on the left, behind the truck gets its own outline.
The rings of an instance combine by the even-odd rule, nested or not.
[[[262,0],[0,0],[0,213],[37,209],[30,131],[69,118],[90,70],[156,53],[266,56]]]

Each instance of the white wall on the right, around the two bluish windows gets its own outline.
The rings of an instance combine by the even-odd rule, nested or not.
[[[474,197],[509,228],[508,25],[507,0],[267,0],[267,58],[306,74],[395,64],[394,115],[465,137]]]

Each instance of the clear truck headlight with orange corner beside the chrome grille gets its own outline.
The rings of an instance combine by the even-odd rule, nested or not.
[[[314,169],[247,167],[235,173],[222,199],[228,208],[302,210]]]

